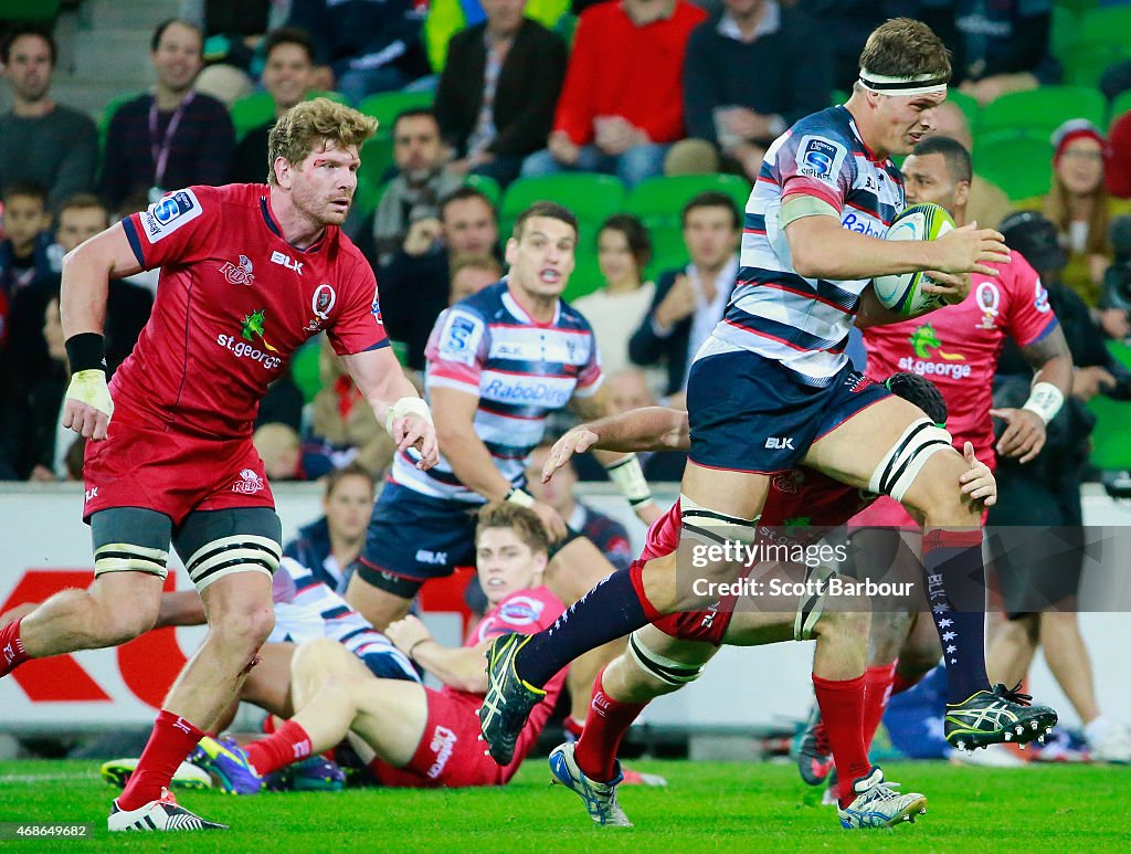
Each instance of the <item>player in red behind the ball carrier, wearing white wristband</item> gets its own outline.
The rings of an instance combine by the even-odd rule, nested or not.
[[[927,137],[903,164],[907,201],[941,205],[959,226],[966,223],[972,175],[969,152],[950,137]],[[869,378],[879,380],[893,371],[927,377],[947,402],[947,430],[955,447],[970,442],[978,459],[995,468],[995,451],[1021,463],[1041,452],[1045,425],[1072,389],[1072,356],[1048,304],[1048,294],[1025,257],[1013,252],[1008,261],[990,266],[998,275],[975,273],[970,295],[962,302],[922,318],[867,327],[864,345]],[[1007,337],[1018,344],[1033,368],[1033,389],[1021,408],[993,409],[993,376]],[[1007,423],[996,445],[992,416]],[[886,571],[892,561],[898,562],[893,571],[897,576],[918,571],[922,528],[897,501],[879,498],[849,527],[855,528],[855,561],[867,575]],[[892,612],[872,621],[866,690],[884,700],[870,709],[865,732],[869,743],[892,692],[918,682],[944,652],[944,662],[952,663],[959,641],[946,633],[943,638],[940,644],[927,614]],[[832,766],[823,730],[818,717],[811,716],[798,743],[797,768],[810,785],[821,784]],[[951,741],[960,748],[956,741],[961,740]]]

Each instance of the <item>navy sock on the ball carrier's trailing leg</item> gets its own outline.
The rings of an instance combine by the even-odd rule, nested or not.
[[[532,685],[544,685],[579,655],[648,624],[629,571],[613,572],[575,602],[515,656],[515,670]]]

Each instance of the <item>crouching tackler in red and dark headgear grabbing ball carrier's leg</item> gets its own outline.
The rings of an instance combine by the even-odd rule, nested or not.
[[[946,406],[930,381],[915,374],[896,374],[888,386],[895,394],[918,405],[932,421],[946,421]],[[658,407],[637,409],[571,430],[554,446],[543,476],[552,476],[573,454],[594,447],[661,450],[685,448],[687,445],[685,413]],[[996,486],[988,467],[974,458],[969,446],[965,455],[969,471],[957,485],[968,500],[993,503]],[[840,525],[872,500],[874,495],[801,466],[771,481],[762,530],[792,529],[800,541],[805,532],[791,523],[804,516],[810,526]],[[641,561],[672,554],[679,543],[679,525],[680,504],[676,503],[649,529]],[[810,528],[810,532],[813,536],[819,528]],[[809,578],[830,575],[826,571]],[[831,597],[826,593],[811,595],[806,590],[795,612],[771,607],[763,595],[728,596],[703,611],[671,614],[632,633],[629,654],[618,657],[597,678],[593,714],[586,719],[581,740],[576,745],[563,744],[551,754],[555,780],[582,797],[594,821],[629,823],[616,803],[615,788],[620,782],[616,749],[624,732],[651,698],[698,679],[722,644],[758,646],[814,636],[818,646],[813,685],[829,726],[834,757],[843,771],[841,825],[846,828],[889,827],[925,812],[922,795],[898,794],[867,759],[864,722],[875,708],[882,708],[882,698],[869,697],[864,690],[869,603],[860,596]],[[877,614],[874,619],[883,616]]]

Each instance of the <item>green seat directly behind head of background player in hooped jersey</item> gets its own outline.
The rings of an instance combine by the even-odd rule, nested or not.
[[[539,200],[556,201],[572,210],[581,226],[580,241],[592,244],[602,221],[623,207],[624,184],[613,175],[590,172],[520,178],[503,193],[499,210],[500,233],[509,234],[518,215]]]

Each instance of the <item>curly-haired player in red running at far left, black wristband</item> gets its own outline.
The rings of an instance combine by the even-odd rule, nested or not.
[[[267,186],[169,193],[64,260],[74,371],[64,424],[92,440],[83,515],[95,578],[0,632],[0,675],[153,627],[170,541],[208,615],[204,644],[114,802],[111,830],[224,827],[179,806],[166,786],[240,690],[274,623],[282,532],[251,425],[291,354],[325,330],[378,422],[402,449],[417,449],[421,467],[437,460],[429,409],[388,346],[372,269],[339,230],[357,150],[375,124],[325,98],[300,104],[271,130]],[[107,388],[107,281],[156,267],[153,316]]]

